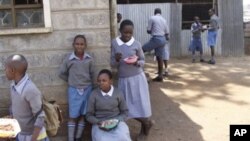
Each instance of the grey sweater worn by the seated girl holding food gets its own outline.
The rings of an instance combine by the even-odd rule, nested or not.
[[[100,89],[93,91],[88,101],[86,118],[92,124],[107,119],[125,120],[128,108],[125,99],[117,88],[113,89],[112,96],[103,96]]]

